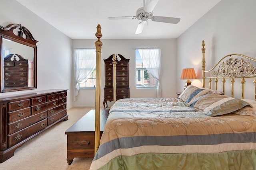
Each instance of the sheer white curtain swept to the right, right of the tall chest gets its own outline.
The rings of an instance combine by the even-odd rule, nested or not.
[[[157,98],[162,98],[161,92],[161,51],[160,49],[138,49],[143,65],[147,68],[148,72],[158,80],[157,85]]]

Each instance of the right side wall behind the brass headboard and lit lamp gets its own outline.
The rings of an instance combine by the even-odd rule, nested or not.
[[[206,44],[206,70],[212,68],[219,59],[231,53],[240,53],[255,59],[255,7],[255,0],[221,0],[178,37],[177,75],[180,75],[182,68],[193,67],[199,78],[202,78],[202,40]],[[235,97],[240,98],[240,80],[237,82],[238,85],[235,85],[235,91],[239,89],[237,90],[239,94],[235,94]],[[192,84],[202,86],[201,79],[192,81]],[[245,96],[254,99],[251,84],[252,82],[245,87]],[[177,90],[181,91],[183,85],[184,81],[178,80]],[[218,87],[221,87],[221,85],[218,85]],[[230,88],[229,80],[226,82],[226,90],[227,88]],[[230,92],[226,91],[226,94],[230,95]]]

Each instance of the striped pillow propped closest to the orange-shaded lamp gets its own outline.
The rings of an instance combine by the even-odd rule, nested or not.
[[[192,99],[198,98],[209,93],[210,90],[201,89],[193,85],[189,85],[185,90],[180,94],[179,98],[184,102],[188,103]]]

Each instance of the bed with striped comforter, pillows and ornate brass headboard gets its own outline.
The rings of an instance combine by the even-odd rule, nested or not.
[[[206,71],[202,46],[203,88],[190,85],[178,98],[117,100],[90,170],[256,168],[256,101],[244,99],[245,79],[254,82],[256,99],[256,59],[227,55]],[[223,95],[228,79],[231,96]],[[235,80],[242,99],[234,98]]]

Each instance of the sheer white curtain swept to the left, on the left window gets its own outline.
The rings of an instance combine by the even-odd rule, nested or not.
[[[77,100],[79,83],[85,82],[95,67],[95,49],[74,49],[74,101]]]

